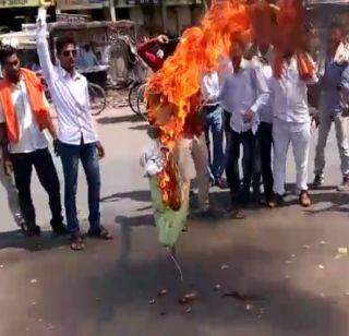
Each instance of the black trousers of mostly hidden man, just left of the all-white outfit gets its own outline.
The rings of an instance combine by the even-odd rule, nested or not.
[[[258,132],[258,145],[261,156],[261,168],[266,199],[273,195],[273,170],[272,170],[272,148],[273,148],[273,124],[261,122]]]

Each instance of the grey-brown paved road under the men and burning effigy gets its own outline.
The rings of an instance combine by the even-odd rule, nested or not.
[[[82,253],[52,239],[49,228],[27,240],[16,233],[0,189],[1,336],[349,335],[349,263],[347,251],[338,250],[348,247],[349,199],[334,191],[340,182],[334,134],[326,187],[311,209],[290,195],[285,208],[248,209],[243,220],[191,220],[178,245],[182,286],[153,227],[139,166],[144,124],[127,109],[97,121],[107,151],[103,217],[116,239],[88,241]],[[47,227],[47,200],[36,178],[33,190],[38,221]],[[85,195],[81,175],[83,221]],[[227,193],[213,190],[213,199],[222,206]],[[160,288],[168,295],[158,298]],[[183,290],[198,293],[190,307],[178,303]]]

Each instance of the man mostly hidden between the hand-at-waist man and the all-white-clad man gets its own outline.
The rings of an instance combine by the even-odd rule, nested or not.
[[[256,55],[253,57],[253,64],[264,76],[268,86],[273,76],[270,65],[273,47],[268,44],[256,45]],[[274,201],[274,179],[272,169],[272,152],[273,152],[273,110],[270,100],[260,109],[260,125],[257,131],[258,148],[261,157],[261,170],[263,177],[265,204],[268,207],[275,206]]]

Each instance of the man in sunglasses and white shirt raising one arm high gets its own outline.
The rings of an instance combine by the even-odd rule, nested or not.
[[[88,184],[88,236],[105,240],[112,239],[110,233],[100,225],[98,160],[104,157],[105,152],[98,141],[89,110],[87,81],[75,70],[75,41],[70,37],[61,37],[57,40],[58,65],[53,67],[46,32],[46,8],[43,5],[39,8],[37,19],[37,52],[58,115],[58,140],[64,173],[67,223],[71,233],[71,249],[79,251],[84,249],[75,200],[79,161],[83,165]]]

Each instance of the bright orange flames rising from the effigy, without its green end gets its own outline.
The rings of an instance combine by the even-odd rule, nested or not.
[[[249,7],[244,2],[216,3],[200,27],[184,32],[173,56],[147,84],[148,120],[160,129],[160,143],[169,149],[158,183],[163,202],[172,209],[181,204],[174,148],[188,113],[194,109],[198,113],[201,76],[205,71],[216,70],[219,57],[227,56],[233,41],[249,34]]]

